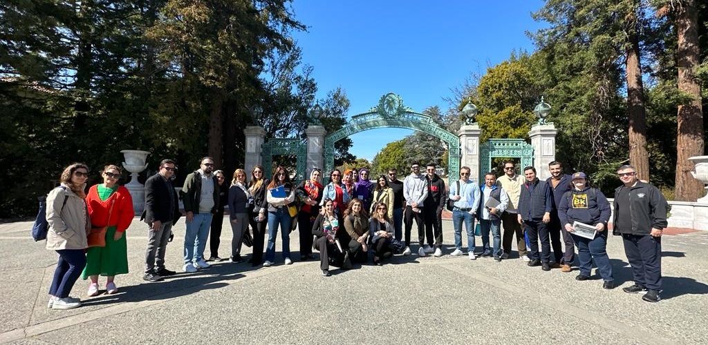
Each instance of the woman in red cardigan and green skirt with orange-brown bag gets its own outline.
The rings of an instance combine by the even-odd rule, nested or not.
[[[98,295],[98,275],[106,276],[105,291],[109,295],[118,292],[115,276],[128,273],[127,243],[125,229],[135,216],[132,197],[128,189],[118,185],[120,168],[116,165],[103,167],[103,183],[93,185],[86,195],[91,223],[95,227],[108,226],[105,232],[105,247],[89,247],[86,250],[86,268],[83,278],[91,279],[88,296]],[[109,218],[110,216],[110,218]]]

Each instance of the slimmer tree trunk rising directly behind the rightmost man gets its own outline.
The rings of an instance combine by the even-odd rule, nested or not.
[[[646,110],[641,81],[639,37],[629,33],[627,49],[627,112],[629,115],[629,163],[636,168],[640,180],[649,181],[649,155],[646,153]]]

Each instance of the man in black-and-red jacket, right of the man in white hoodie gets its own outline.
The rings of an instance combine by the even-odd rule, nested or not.
[[[433,252],[435,247],[435,257],[442,256],[442,208],[447,201],[445,192],[445,181],[435,173],[435,164],[426,165],[426,181],[428,182],[428,197],[423,201],[423,212],[426,219],[426,237],[428,245],[423,247],[423,252]],[[433,243],[433,238],[435,242]]]

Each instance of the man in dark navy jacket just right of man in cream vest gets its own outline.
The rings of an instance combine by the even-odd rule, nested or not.
[[[550,271],[551,242],[547,224],[551,221],[551,211],[553,201],[551,188],[546,181],[541,181],[536,177],[536,168],[527,166],[524,168],[526,181],[521,185],[521,195],[519,197],[519,224],[525,224],[526,234],[529,238],[531,261],[529,266],[538,266],[544,271]],[[538,240],[541,240],[541,255],[538,253]]]

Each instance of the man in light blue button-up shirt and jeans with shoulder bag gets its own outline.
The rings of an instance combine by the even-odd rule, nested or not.
[[[455,200],[452,209],[452,225],[455,228],[455,251],[450,255],[462,255],[462,222],[467,230],[467,255],[474,257],[474,216],[479,208],[479,187],[469,180],[469,168],[459,168],[459,180],[450,183],[450,199]]]

